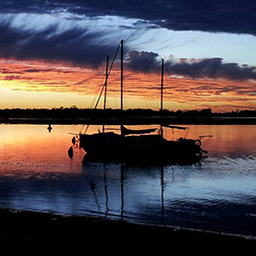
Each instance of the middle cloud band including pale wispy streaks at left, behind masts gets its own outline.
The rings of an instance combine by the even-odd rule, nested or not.
[[[77,1],[79,2],[79,1]],[[107,7],[106,7],[107,8]],[[69,62],[90,68],[99,67],[112,54],[125,34],[111,29],[115,20],[73,21],[48,14],[2,15],[0,18],[0,57],[17,60]],[[122,20],[119,20],[122,22]],[[129,21],[133,23],[134,21]],[[108,25],[110,26],[108,28]],[[160,56],[155,52],[126,48],[126,65],[143,73],[160,72]],[[165,60],[169,75],[190,78],[256,80],[255,68],[224,63],[222,58]]]

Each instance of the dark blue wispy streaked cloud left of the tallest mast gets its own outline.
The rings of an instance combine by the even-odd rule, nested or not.
[[[11,18],[0,22],[2,58],[67,61],[97,67],[116,48],[116,45],[96,43],[101,34],[86,28],[59,30],[57,25],[49,25],[39,31],[21,30],[13,27],[12,22]]]

